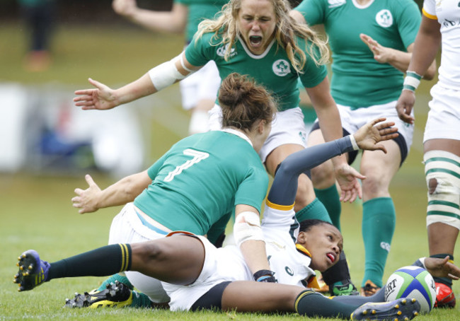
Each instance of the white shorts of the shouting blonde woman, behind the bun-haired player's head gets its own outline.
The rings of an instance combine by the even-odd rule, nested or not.
[[[219,105],[214,105],[209,111],[209,129],[218,130],[221,128],[222,109]],[[262,163],[265,163],[267,156],[275,148],[284,144],[297,144],[306,147],[304,114],[299,107],[276,113],[275,119],[272,121],[272,130],[259,151]]]

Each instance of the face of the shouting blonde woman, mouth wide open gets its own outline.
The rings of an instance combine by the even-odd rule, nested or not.
[[[242,0],[238,29],[249,51],[263,54],[275,34],[275,10],[269,0]]]

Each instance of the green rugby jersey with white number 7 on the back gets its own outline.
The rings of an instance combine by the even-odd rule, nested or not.
[[[148,173],[153,182],[134,205],[171,230],[198,235],[224,216],[228,221],[236,204],[260,212],[268,189],[268,174],[251,144],[222,131],[182,139]]]

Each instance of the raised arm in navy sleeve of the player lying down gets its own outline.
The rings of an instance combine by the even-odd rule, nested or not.
[[[398,129],[394,122],[384,122],[385,118],[374,119],[357,130],[352,136],[345,136],[328,143],[308,147],[289,155],[277,170],[272,187],[268,193],[268,200],[278,205],[294,204],[297,192],[297,178],[306,170],[358,148],[375,151],[386,149],[380,141],[394,139],[398,136]]]

